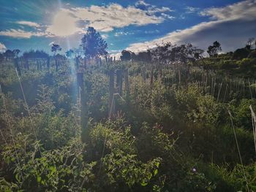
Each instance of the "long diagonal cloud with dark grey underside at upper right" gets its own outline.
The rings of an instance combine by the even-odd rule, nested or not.
[[[256,1],[247,0],[227,7],[211,8],[201,12],[215,20],[199,23],[190,28],[176,30],[162,38],[129,45],[128,50],[139,52],[162,44],[162,42],[184,43],[206,49],[212,42],[222,43],[222,50],[231,51],[243,47],[246,39],[255,37]]]

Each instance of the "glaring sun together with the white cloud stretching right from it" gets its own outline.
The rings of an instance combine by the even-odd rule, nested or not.
[[[120,4],[62,8],[57,12],[52,25],[48,26],[46,31],[55,36],[65,37],[83,33],[85,28],[79,27],[81,22],[83,26],[92,26],[97,31],[108,32],[113,31],[114,28],[123,28],[129,25],[144,26],[150,23],[162,23],[165,19],[173,19],[164,13],[171,11],[168,7],[158,8],[146,4],[144,1],[138,1],[137,4],[143,4],[148,8],[122,7]],[[156,13],[163,15],[156,16]]]

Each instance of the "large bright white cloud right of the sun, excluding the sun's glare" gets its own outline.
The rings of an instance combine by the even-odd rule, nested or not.
[[[164,18],[157,17],[150,10],[142,10],[133,6],[122,7],[120,4],[109,4],[107,7],[91,6],[63,9],[74,15],[77,20],[83,20],[98,31],[113,31],[129,25],[144,26],[149,23],[162,23]],[[151,14],[148,14],[151,12]],[[155,12],[158,12],[155,10]]]

